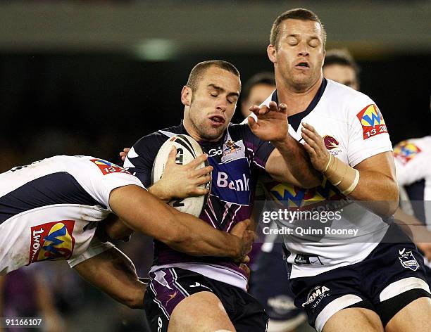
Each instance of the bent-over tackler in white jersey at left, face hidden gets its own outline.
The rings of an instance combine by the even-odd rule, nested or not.
[[[170,155],[175,158],[175,151]],[[194,160],[196,165],[202,158]],[[130,227],[189,255],[240,260],[254,236],[246,231],[249,222],[229,234],[170,208],[111,162],[61,155],[0,174],[0,274],[34,262],[68,260],[115,300],[143,308],[146,284],[135,266],[95,236],[102,220],[104,237],[123,238]]]

